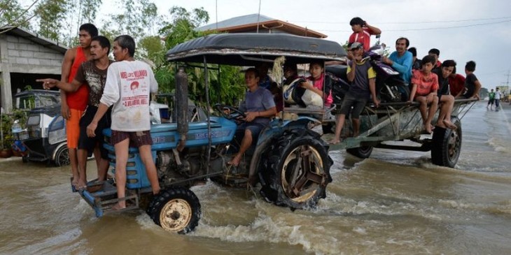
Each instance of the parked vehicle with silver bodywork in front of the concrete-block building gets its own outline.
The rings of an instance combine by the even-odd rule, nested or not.
[[[66,125],[60,115],[60,94],[56,91],[32,89],[15,95],[15,105],[27,110],[27,129],[18,139],[27,148],[24,161],[45,161],[55,166],[69,164]]]

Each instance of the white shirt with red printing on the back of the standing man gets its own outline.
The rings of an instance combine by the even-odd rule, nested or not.
[[[111,129],[146,131],[151,129],[149,101],[158,92],[151,66],[143,61],[119,61],[109,66],[100,102],[113,105]]]

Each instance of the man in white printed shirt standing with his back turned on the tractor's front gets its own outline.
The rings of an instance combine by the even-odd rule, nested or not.
[[[113,41],[113,57],[116,62],[109,66],[106,85],[98,110],[87,126],[87,135],[94,137],[99,119],[112,108],[111,143],[116,151],[116,182],[118,198],[125,198],[126,163],[130,141],[139,147],[139,153],[153,188],[153,194],[160,192],[158,174],[151,155],[151,120],[149,115],[150,93],[158,91],[151,66],[134,60],[135,41],[131,36],[118,36]],[[114,210],[126,207],[120,200]]]

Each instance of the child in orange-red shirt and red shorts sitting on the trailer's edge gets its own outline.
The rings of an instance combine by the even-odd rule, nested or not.
[[[408,102],[417,101],[420,103],[419,110],[426,133],[431,133],[433,130],[431,120],[435,115],[438,104],[438,76],[435,73],[431,73],[435,64],[435,57],[429,55],[424,57],[422,59],[421,70],[414,70],[412,72],[412,82],[410,82],[412,92],[410,92]]]

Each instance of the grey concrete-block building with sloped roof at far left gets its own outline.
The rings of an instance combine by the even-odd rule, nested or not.
[[[67,47],[25,29],[0,28],[0,101],[5,112],[13,108],[13,96],[31,86],[41,89],[39,78],[60,79]]]

